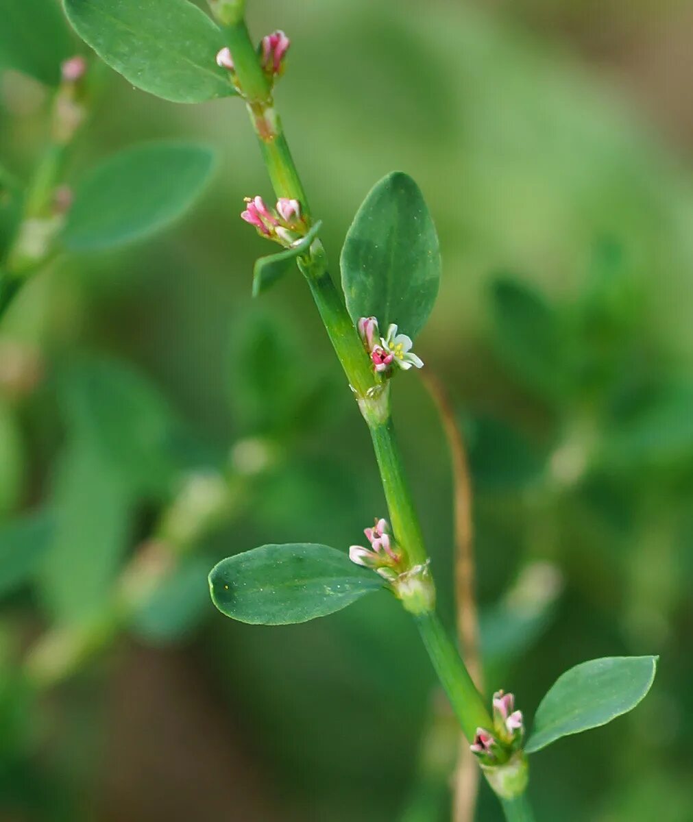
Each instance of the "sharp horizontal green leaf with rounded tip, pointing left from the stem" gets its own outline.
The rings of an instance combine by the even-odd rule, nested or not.
[[[263,545],[222,560],[209,575],[221,613],[251,625],[325,617],[383,586],[336,548],[309,543]]]

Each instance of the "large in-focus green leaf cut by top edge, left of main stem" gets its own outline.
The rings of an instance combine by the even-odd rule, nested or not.
[[[235,94],[216,65],[221,30],[188,0],[63,0],[67,19],[111,68],[174,103]]]

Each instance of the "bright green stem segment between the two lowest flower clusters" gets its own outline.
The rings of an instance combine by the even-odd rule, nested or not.
[[[416,617],[416,626],[464,735],[471,742],[477,727],[493,727],[486,705],[435,613]]]

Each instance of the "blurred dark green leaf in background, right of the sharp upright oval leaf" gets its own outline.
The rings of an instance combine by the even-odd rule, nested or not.
[[[556,399],[565,391],[567,363],[560,325],[541,294],[509,277],[491,289],[498,355],[540,394]]]

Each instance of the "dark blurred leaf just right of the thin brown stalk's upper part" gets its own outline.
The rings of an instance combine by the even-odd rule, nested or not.
[[[469,428],[469,465],[479,491],[513,491],[542,472],[542,455],[516,428],[491,417],[478,417]]]

